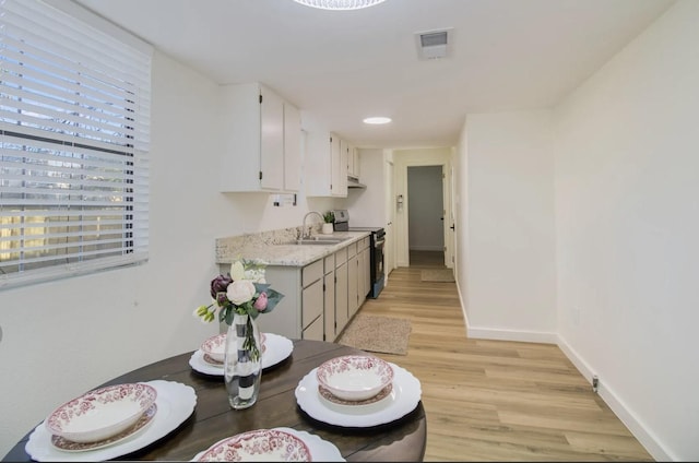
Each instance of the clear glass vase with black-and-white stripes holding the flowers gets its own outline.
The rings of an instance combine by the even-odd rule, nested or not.
[[[234,409],[252,406],[260,393],[262,348],[260,331],[251,317],[234,314],[226,334],[224,380]]]

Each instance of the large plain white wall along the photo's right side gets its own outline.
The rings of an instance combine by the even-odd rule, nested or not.
[[[558,331],[657,460],[699,459],[699,2],[556,111]]]

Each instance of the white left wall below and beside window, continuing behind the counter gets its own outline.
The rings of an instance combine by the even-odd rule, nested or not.
[[[159,52],[152,81],[150,261],[0,292],[0,455],[61,403],[217,332],[191,314],[210,298],[216,238],[300,226],[309,209],[333,207],[220,193],[217,86]]]

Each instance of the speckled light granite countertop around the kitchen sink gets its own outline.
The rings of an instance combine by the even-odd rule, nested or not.
[[[296,239],[296,232],[287,230],[220,238],[216,240],[216,263],[227,264],[247,259],[259,260],[268,265],[305,266],[370,235],[369,232],[334,232],[320,236],[342,238],[342,242],[294,245],[289,242]]]

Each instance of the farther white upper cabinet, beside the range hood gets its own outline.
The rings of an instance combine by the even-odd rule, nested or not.
[[[306,132],[304,185],[308,197],[347,197],[347,157],[341,139],[315,117],[301,111]]]

